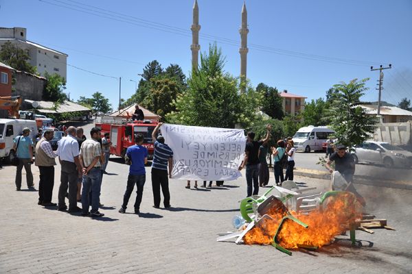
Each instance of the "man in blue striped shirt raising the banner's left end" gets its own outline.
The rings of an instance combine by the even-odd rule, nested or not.
[[[157,124],[152,133],[152,140],[155,142],[155,152],[153,154],[152,161],[152,189],[154,208],[160,206],[160,186],[163,192],[163,205],[165,208],[170,208],[170,193],[169,193],[169,179],[168,179],[168,166],[169,166],[169,178],[172,177],[173,166],[173,151],[168,145],[165,144],[165,138],[159,135],[157,131],[163,123]],[[157,136],[157,138],[156,138]]]

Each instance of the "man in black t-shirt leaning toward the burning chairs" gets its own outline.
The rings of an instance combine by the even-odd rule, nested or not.
[[[356,191],[354,184],[352,184],[352,179],[355,173],[355,162],[354,158],[350,153],[346,151],[347,147],[345,145],[336,145],[336,151],[329,156],[328,162],[326,162],[325,167],[330,173],[333,173],[334,170],[330,167],[332,162],[335,163],[335,170],[339,171],[346,182],[350,183],[347,186],[346,191],[350,191],[356,195],[358,201],[365,206],[365,199]]]

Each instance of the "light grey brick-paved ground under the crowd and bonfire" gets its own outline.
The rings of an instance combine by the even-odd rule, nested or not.
[[[387,218],[396,231],[357,232],[363,247],[340,241],[287,256],[269,246],[216,242],[219,233],[233,230],[238,200],[246,195],[244,179],[211,190],[187,190],[185,182],[172,179],[173,208],[164,210],[152,208],[149,175],[143,214],[119,214],[128,166],[115,160],[108,164],[111,175],[104,177],[102,186],[102,219],[37,206],[36,192],[15,191],[15,168],[1,169],[0,273],[412,273],[409,190],[356,186],[367,199],[367,212]],[[38,170],[33,170],[37,188]],[[56,166],[54,201],[59,172]],[[328,184],[295,180],[317,188]],[[130,206],[134,199],[135,194]]]

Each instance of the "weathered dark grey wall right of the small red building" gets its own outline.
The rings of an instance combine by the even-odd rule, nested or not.
[[[47,80],[29,73],[15,72],[16,84],[13,85],[12,95],[20,95],[23,99],[41,101]]]

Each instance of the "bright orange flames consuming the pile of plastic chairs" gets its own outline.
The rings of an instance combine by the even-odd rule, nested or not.
[[[361,217],[360,207],[352,193],[344,192],[329,197],[328,201],[326,206],[310,214],[290,212],[292,216],[306,223],[308,228],[286,219],[277,234],[277,242],[288,249],[296,249],[302,245],[322,247],[330,243],[334,236],[348,230],[350,224]],[[258,221],[255,227],[244,236],[243,240],[246,244],[271,245],[282,218],[288,212],[276,208],[269,210],[266,214],[271,219]]]

